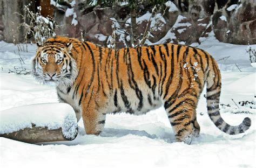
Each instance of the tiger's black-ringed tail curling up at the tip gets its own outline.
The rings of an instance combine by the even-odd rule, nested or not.
[[[210,57],[210,63],[208,65],[207,72],[207,110],[208,115],[210,116],[213,123],[218,127],[221,131],[230,134],[240,134],[245,132],[251,126],[251,119],[246,117],[241,124],[237,126],[230,125],[226,123],[223,118],[220,116],[219,112],[219,100],[220,100],[220,89],[221,89],[221,76],[220,70],[217,66],[217,62]]]

